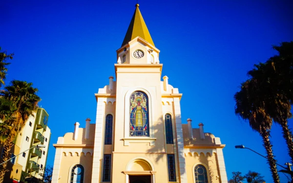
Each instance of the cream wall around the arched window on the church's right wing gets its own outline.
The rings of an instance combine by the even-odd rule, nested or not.
[[[185,159],[188,183],[195,183],[194,167],[196,164],[203,164],[207,168],[209,183],[221,183],[217,177],[219,176],[219,169],[217,168],[216,154],[211,156],[209,153],[200,153],[200,155],[188,153]]]

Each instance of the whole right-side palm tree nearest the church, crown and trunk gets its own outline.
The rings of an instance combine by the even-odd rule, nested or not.
[[[268,163],[271,168],[274,183],[280,183],[276,162],[273,158],[272,143],[270,142],[270,129],[272,118],[265,110],[265,100],[262,97],[262,90],[259,89],[257,80],[250,79],[241,84],[241,90],[234,95],[235,114],[244,120],[248,120],[253,131],[260,134],[263,146],[266,149]]]

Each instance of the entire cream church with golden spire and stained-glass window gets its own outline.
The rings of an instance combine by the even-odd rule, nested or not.
[[[52,183],[228,183],[225,145],[203,123],[182,123],[182,94],[162,78],[159,53],[136,4],[116,81],[95,94],[95,122],[53,144]]]

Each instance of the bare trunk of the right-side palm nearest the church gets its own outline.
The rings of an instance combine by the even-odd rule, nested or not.
[[[261,127],[261,133],[260,133],[261,137],[263,138],[263,146],[265,147],[266,151],[267,151],[267,157],[269,160],[268,160],[268,163],[270,165],[270,168],[271,168],[271,172],[272,172],[272,179],[273,179],[273,182],[274,183],[280,183],[280,180],[279,180],[279,174],[278,174],[278,171],[277,171],[277,167],[276,167],[276,160],[274,160],[273,158],[273,154],[272,154],[272,144],[270,142],[270,131],[269,130],[266,130],[264,127]]]

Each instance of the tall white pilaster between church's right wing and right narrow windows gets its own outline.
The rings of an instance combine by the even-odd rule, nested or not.
[[[174,98],[174,111],[175,111],[175,122],[176,122],[176,132],[177,132],[177,148],[179,157],[179,172],[180,172],[180,183],[187,183],[187,173],[185,166],[184,157],[184,142],[183,142],[183,132],[182,132],[182,122],[181,122],[181,109],[179,98]]]

